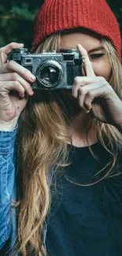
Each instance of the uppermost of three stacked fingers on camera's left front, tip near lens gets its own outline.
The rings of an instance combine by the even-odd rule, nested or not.
[[[25,80],[28,80],[28,82],[30,83],[33,83],[36,79],[35,76],[33,76],[28,69],[25,69],[16,61],[9,61],[8,63],[1,66],[1,74],[5,74],[8,72],[17,72],[20,76],[22,76]]]

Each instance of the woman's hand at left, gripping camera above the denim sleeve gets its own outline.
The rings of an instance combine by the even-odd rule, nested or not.
[[[0,131],[13,130],[28,96],[34,93],[30,83],[35,76],[15,61],[6,62],[13,49],[22,47],[21,43],[9,43],[0,48]]]

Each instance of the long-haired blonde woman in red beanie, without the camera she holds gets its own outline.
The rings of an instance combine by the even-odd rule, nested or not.
[[[1,49],[0,246],[10,239],[9,249],[22,255],[119,256],[122,72],[116,18],[105,1],[46,0],[39,9],[32,50],[78,48],[85,59],[72,91],[32,91],[31,72],[6,63],[20,47]]]

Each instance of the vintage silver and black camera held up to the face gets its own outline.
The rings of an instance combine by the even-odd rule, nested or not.
[[[32,72],[36,77],[31,84],[34,90],[72,89],[74,78],[82,76],[84,61],[76,49],[43,54],[30,54],[26,48],[14,49],[9,59]]]

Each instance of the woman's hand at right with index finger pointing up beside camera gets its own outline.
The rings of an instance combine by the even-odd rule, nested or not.
[[[79,106],[86,113],[93,114],[98,121],[122,128],[122,102],[113,87],[102,76],[95,76],[87,51],[78,45],[85,58],[87,76],[76,76],[72,96],[78,99]]]

